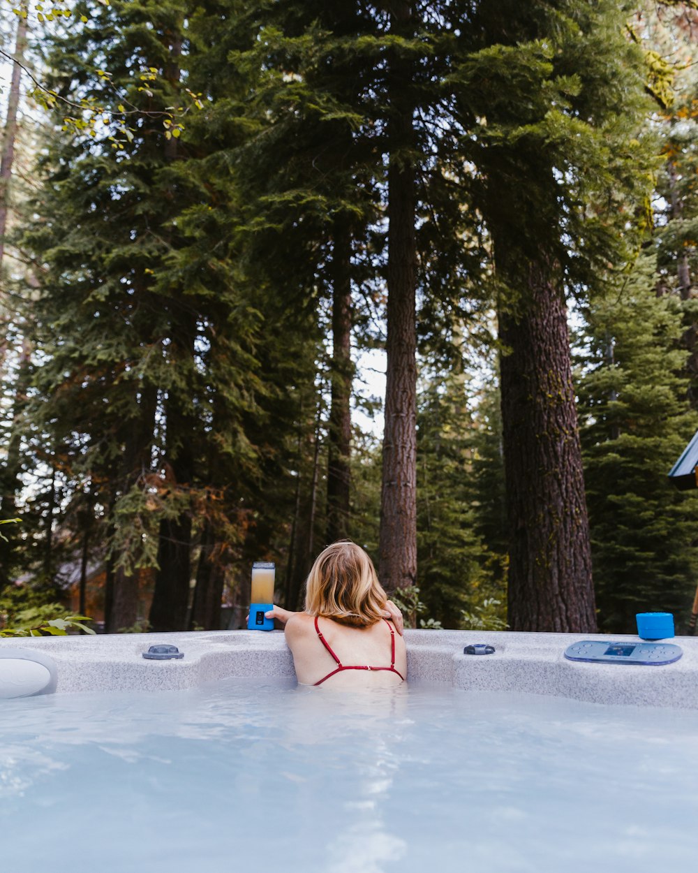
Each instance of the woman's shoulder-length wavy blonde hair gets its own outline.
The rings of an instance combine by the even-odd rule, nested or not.
[[[305,583],[305,612],[355,628],[377,622],[386,601],[372,560],[350,540],[319,553]]]

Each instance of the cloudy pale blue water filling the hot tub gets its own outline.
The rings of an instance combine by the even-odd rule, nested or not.
[[[698,711],[440,686],[0,704],[8,873],[695,870]]]

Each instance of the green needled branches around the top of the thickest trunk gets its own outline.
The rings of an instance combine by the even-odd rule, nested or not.
[[[625,14],[612,0],[485,0],[454,58],[462,153],[477,168],[471,206],[494,237],[500,306],[512,313],[524,263],[585,294],[637,244],[654,159]]]

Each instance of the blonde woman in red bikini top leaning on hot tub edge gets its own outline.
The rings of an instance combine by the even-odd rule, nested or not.
[[[275,606],[266,615],[284,625],[301,684],[379,688],[407,676],[400,610],[355,543],[333,543],[318,555],[305,583],[305,612]]]

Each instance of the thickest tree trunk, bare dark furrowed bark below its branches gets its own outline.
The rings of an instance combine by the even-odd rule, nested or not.
[[[496,244],[496,239],[495,239]],[[499,265],[498,265],[499,266]],[[545,266],[500,312],[512,630],[596,630],[592,558],[565,299]]]

